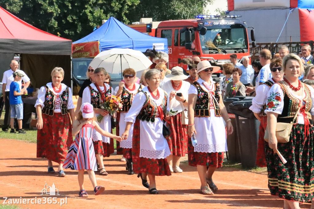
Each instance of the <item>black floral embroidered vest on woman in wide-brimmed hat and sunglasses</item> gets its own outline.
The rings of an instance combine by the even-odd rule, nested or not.
[[[209,101],[210,98],[209,96],[212,96],[210,93],[205,91],[201,85],[198,82],[192,83],[193,86],[197,88],[198,95],[196,99],[196,104],[195,104],[195,110],[194,110],[194,117],[209,117],[210,116],[210,111],[209,111]],[[215,83],[215,90],[214,90],[214,96],[219,102],[220,100],[220,85],[219,83]],[[210,95],[209,95],[210,94]],[[214,110],[215,110],[215,116],[221,117],[221,111],[219,109],[219,104],[213,99],[214,103]]]

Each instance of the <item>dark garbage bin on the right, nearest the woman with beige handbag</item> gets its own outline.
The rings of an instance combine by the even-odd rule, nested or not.
[[[252,99],[253,97],[246,97],[242,101],[235,101],[229,105],[229,111],[236,116],[236,128],[243,167],[254,167],[256,162],[260,122],[249,110]]]

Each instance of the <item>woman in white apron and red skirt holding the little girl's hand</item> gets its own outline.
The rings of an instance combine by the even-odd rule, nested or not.
[[[160,71],[146,72],[148,83],[135,95],[132,106],[125,116],[127,122],[122,138],[127,138],[131,125],[133,128],[132,159],[133,170],[141,177],[142,184],[150,194],[158,194],[155,176],[170,176],[167,162],[169,145],[163,136],[163,119],[167,116],[167,94],[159,88]],[[149,184],[147,182],[149,178]]]

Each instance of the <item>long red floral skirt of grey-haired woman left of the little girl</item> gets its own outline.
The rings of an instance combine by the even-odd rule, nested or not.
[[[43,127],[37,131],[37,158],[64,163],[73,137],[69,114],[42,114]]]

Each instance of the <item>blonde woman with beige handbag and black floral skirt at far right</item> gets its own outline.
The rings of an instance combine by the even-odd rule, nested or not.
[[[314,89],[298,79],[304,68],[297,55],[284,56],[282,68],[280,72],[284,80],[274,83],[269,89],[265,110],[268,188],[272,195],[284,199],[284,208],[300,208],[299,202],[309,201],[312,202],[311,208],[314,208]],[[279,143],[276,137],[277,123],[291,121],[294,124],[289,142]],[[277,150],[287,163],[280,160]]]

